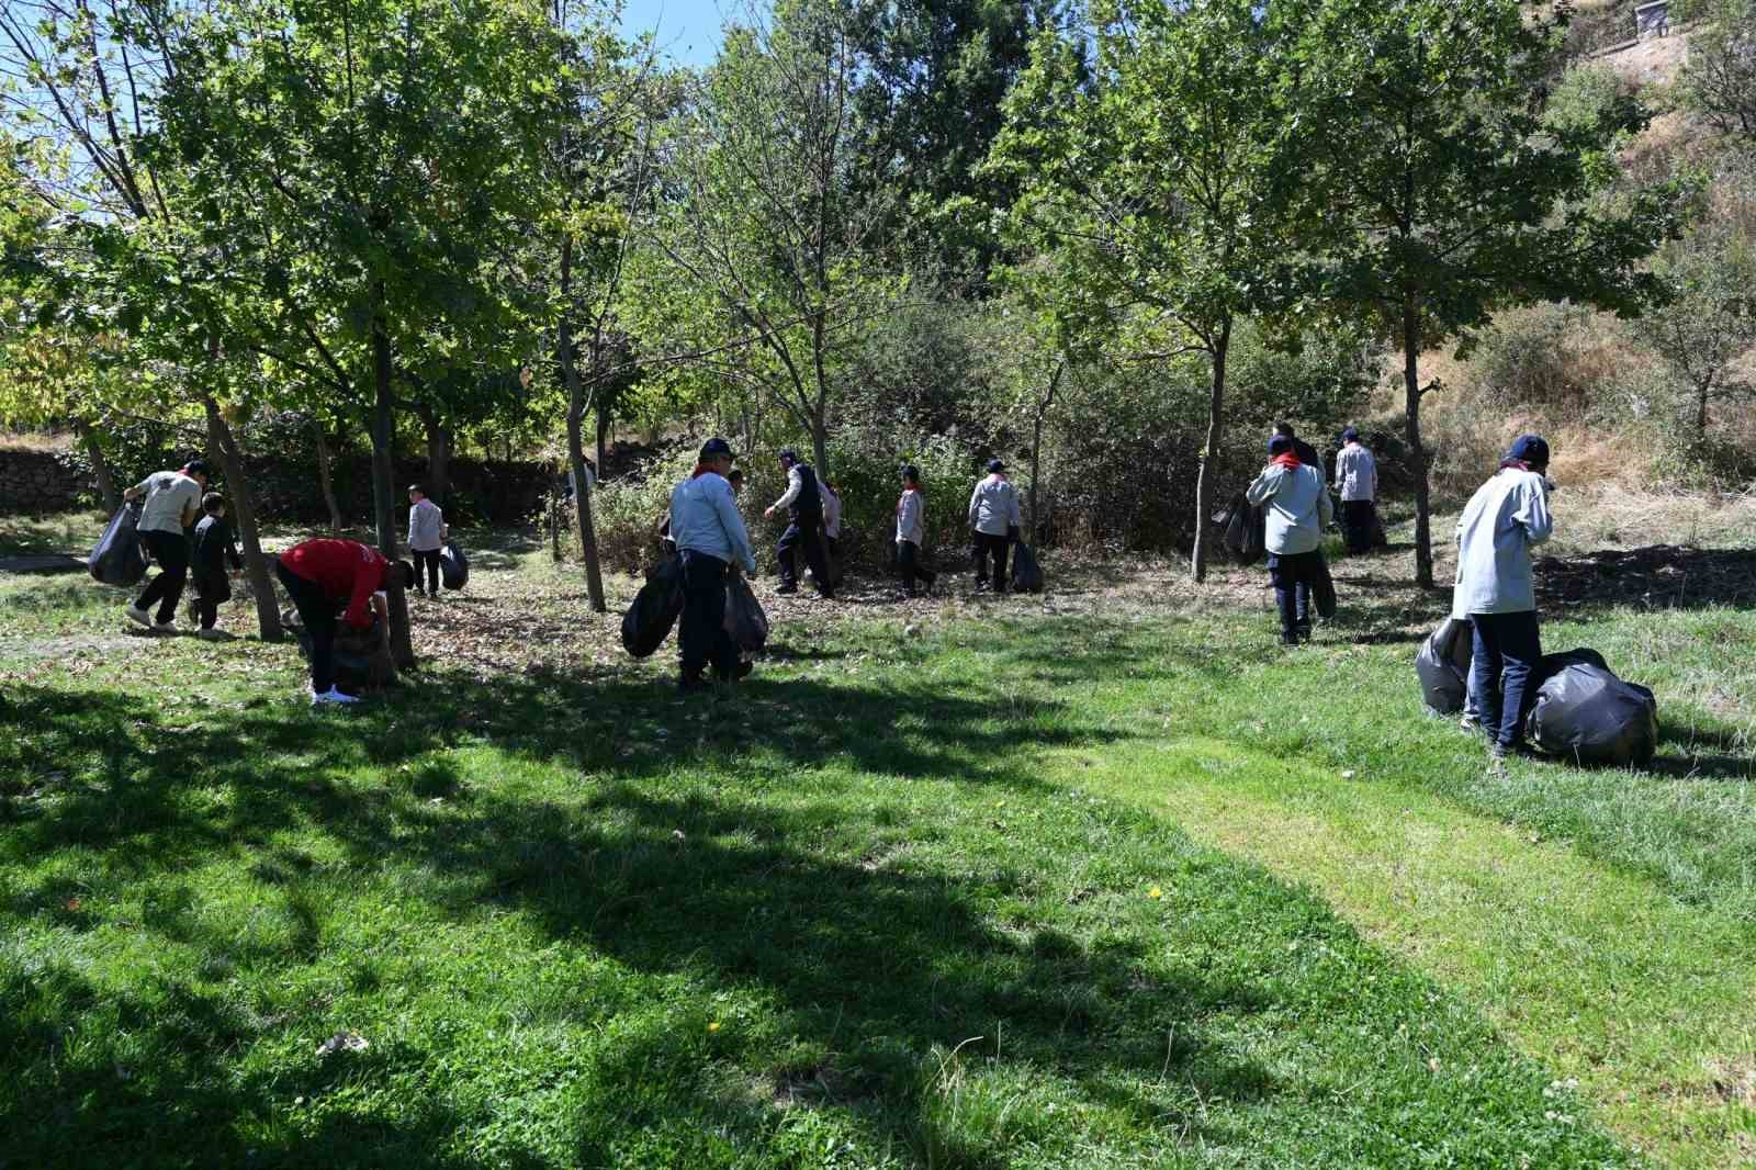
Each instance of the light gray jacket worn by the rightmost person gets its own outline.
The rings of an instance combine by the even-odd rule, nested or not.
[[[1549,485],[1535,471],[1503,467],[1475,490],[1457,520],[1454,617],[1536,608],[1531,545],[1554,532]]]

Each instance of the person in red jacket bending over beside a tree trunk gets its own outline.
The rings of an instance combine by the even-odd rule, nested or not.
[[[360,541],[314,539],[293,545],[274,566],[293,599],[299,620],[311,634],[311,703],[358,703],[335,689],[335,611],[355,629],[371,629],[372,613],[386,615],[381,596],[390,574],[402,574],[402,589],[414,583],[414,566],[392,566],[376,548]]]

